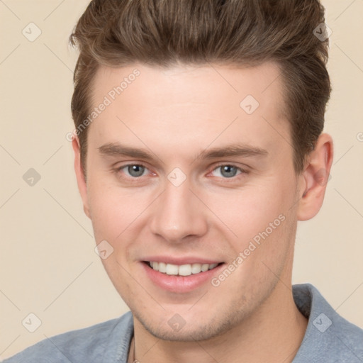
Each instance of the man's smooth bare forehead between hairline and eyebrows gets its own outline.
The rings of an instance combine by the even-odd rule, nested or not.
[[[157,140],[170,150],[226,140],[267,147],[281,142],[281,133],[289,138],[280,69],[272,62],[100,67],[92,91],[93,107],[107,104],[89,130],[97,146],[127,139],[144,147]]]

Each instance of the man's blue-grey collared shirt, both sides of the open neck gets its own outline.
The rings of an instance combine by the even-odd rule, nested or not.
[[[363,330],[337,314],[311,284],[293,286],[294,301],[308,318],[294,363],[363,363]],[[133,315],[56,335],[4,363],[127,363]]]

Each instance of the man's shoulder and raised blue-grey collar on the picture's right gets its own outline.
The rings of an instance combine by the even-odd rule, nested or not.
[[[294,285],[294,299],[308,327],[294,363],[363,362],[363,330],[342,318],[311,284]]]

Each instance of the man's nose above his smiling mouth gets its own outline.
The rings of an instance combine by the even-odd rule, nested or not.
[[[179,186],[167,181],[164,192],[153,204],[151,231],[167,242],[200,238],[208,230],[206,208],[190,190],[188,179]]]

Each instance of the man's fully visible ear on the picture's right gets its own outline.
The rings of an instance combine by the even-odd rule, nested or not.
[[[298,202],[298,220],[313,218],[320,210],[333,162],[333,140],[323,133],[317,140],[314,150],[308,155],[303,172],[300,201]]]

